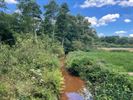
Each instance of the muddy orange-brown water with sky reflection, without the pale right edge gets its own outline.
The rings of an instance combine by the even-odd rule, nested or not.
[[[82,97],[80,97],[78,93],[81,89],[83,89],[83,87],[85,87],[85,82],[81,80],[79,77],[71,75],[65,69],[65,58],[61,59],[61,71],[64,77],[64,86],[60,96],[60,100],[82,100],[82,99],[79,99]],[[70,98],[74,98],[74,99],[70,99]]]

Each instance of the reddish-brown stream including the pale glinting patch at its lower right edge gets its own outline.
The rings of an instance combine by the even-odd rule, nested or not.
[[[60,100],[93,100],[92,95],[85,87],[85,82],[79,77],[71,75],[65,69],[65,58],[61,59],[61,72],[64,77],[63,90]]]

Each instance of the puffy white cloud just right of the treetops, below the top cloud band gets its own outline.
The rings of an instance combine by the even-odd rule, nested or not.
[[[97,19],[96,17],[85,17],[85,19],[88,20],[92,24],[92,26],[105,26],[110,22],[115,22],[120,17],[119,14],[108,14],[100,19]]]

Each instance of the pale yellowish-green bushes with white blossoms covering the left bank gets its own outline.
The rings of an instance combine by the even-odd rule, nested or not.
[[[45,39],[17,36],[13,47],[0,45],[0,100],[58,99],[63,78],[57,56],[62,48]]]

